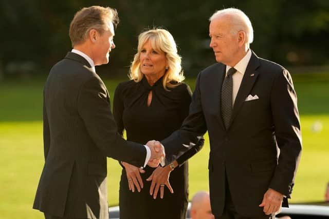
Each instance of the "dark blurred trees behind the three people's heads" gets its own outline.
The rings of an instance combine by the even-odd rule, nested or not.
[[[163,27],[174,36],[187,75],[215,62],[209,49],[208,18],[217,9],[236,7],[254,28],[251,48],[284,66],[329,65],[329,1],[314,0],[20,0],[0,1],[0,78],[47,74],[71,49],[69,23],[75,12],[91,5],[119,12],[116,49],[105,76],[126,75],[145,28]]]

